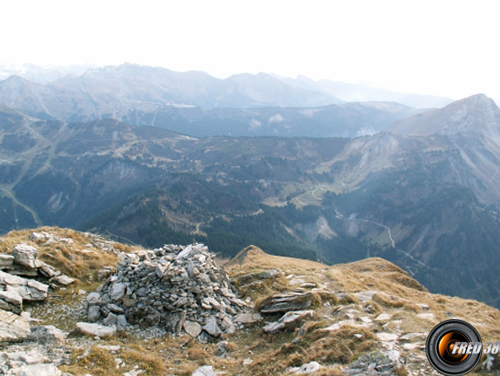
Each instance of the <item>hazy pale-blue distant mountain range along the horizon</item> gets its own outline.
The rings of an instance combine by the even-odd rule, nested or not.
[[[0,103],[40,119],[113,118],[194,137],[357,137],[419,112],[390,102],[338,102],[264,73],[220,80],[204,72],[132,64],[89,69],[48,84],[20,76],[0,81]]]

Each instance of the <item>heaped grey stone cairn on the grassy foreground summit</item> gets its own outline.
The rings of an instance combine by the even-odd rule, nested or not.
[[[87,300],[91,322],[184,329],[193,337],[233,332],[246,306],[203,244],[122,254],[115,274]]]

